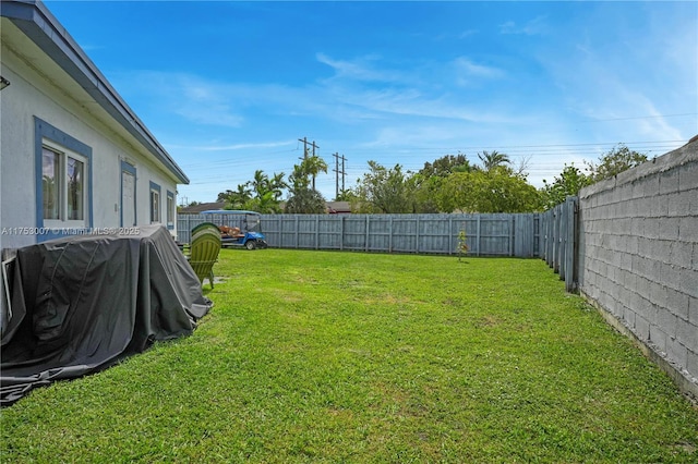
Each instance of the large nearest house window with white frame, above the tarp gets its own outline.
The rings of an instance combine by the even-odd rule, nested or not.
[[[48,141],[41,147],[41,203],[44,227],[87,225],[87,158]]]

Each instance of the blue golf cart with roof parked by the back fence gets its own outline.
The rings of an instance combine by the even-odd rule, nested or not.
[[[202,215],[218,225],[222,247],[255,249],[268,246],[262,233],[262,215],[256,211],[209,209]]]

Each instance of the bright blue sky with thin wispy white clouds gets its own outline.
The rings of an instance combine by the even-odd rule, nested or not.
[[[369,160],[482,150],[541,186],[618,143],[652,157],[698,134],[695,1],[46,4],[186,172],[179,203],[288,175],[303,137],[332,199],[333,154],[347,187]]]

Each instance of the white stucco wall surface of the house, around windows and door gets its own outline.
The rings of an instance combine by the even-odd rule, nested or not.
[[[1,75],[11,85],[0,94],[0,246],[21,247],[70,232],[70,228],[47,232],[48,228],[41,223],[40,203],[37,205],[37,193],[41,190],[40,172],[37,180],[37,161],[40,162],[36,157],[37,121],[91,150],[88,180],[92,181],[92,194],[88,193],[88,197],[92,213],[87,228],[100,230],[133,225],[121,223],[121,170],[124,161],[132,164],[136,173],[135,225],[151,223],[152,183],[160,187],[160,222],[167,225],[167,193],[176,195],[177,180],[139,149],[134,141],[95,114],[97,110],[80,105],[53,80],[39,74],[25,58],[5,47],[4,41],[1,57]],[[176,221],[170,229],[176,235]]]

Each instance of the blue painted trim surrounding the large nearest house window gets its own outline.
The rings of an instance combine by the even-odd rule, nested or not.
[[[59,236],[72,235],[80,233],[77,229],[72,230],[70,228],[45,228],[44,225],[44,191],[43,185],[43,149],[44,141],[49,141],[60,145],[75,154],[87,159],[87,197],[85,205],[85,215],[87,216],[86,224],[84,229],[92,230],[93,228],[93,159],[92,147],[80,142],[75,137],[64,133],[58,127],[49,124],[40,118],[34,117],[34,162],[35,162],[35,181],[36,181],[36,229],[37,229],[37,242],[45,242],[47,240],[57,239]]]

